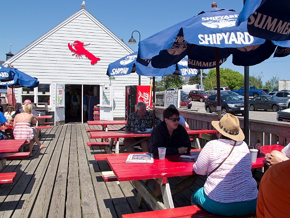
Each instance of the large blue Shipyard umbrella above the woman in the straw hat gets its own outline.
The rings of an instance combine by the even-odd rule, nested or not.
[[[188,67],[199,69],[215,68],[216,62],[219,66],[230,55],[237,66],[252,66],[268,59],[277,46],[251,36],[246,22],[235,26],[237,17],[234,10],[214,7],[203,11],[142,40],[140,58],[151,59],[155,68],[166,68],[188,55]]]

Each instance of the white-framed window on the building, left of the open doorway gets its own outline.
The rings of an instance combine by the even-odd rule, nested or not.
[[[50,108],[51,99],[51,84],[39,84],[37,88],[27,88],[23,87],[21,92],[21,103],[26,99],[29,99],[31,103],[37,104],[38,107],[44,107],[47,103]]]

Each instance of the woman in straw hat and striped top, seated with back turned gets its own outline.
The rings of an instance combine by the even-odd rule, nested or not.
[[[207,175],[204,187],[193,192],[192,204],[224,216],[242,216],[256,211],[257,183],[251,173],[251,155],[239,120],[226,113],[212,121],[217,140],[208,142],[193,165]]]

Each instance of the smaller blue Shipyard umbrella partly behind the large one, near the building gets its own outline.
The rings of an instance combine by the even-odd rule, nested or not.
[[[137,73],[146,77],[161,77],[168,74],[180,75],[184,77],[197,76],[198,69],[190,69],[187,66],[187,57],[184,57],[177,64],[169,66],[168,68],[156,69],[148,63],[147,66],[137,62],[138,52],[127,55],[108,66],[108,76],[123,76],[131,73]],[[146,62],[146,60],[140,60]]]

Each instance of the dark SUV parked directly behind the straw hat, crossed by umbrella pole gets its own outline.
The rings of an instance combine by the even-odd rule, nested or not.
[[[244,101],[240,100],[236,95],[221,93],[221,114],[241,113],[244,115]],[[217,112],[217,94],[209,96],[205,101],[205,109],[208,113]]]

